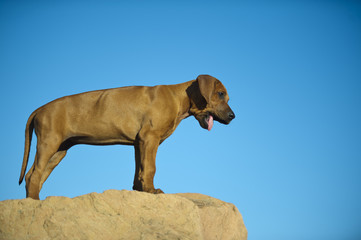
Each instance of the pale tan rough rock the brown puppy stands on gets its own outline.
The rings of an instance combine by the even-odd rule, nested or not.
[[[108,190],[0,202],[0,239],[247,239],[238,209],[202,194]]]

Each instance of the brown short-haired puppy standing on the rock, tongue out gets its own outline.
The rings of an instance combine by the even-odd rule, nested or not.
[[[35,128],[38,142],[34,164],[25,177],[27,197],[39,199],[51,171],[76,144],[134,145],[133,189],[163,193],[153,185],[159,144],[190,115],[208,130],[213,119],[228,124],[235,118],[228,100],[223,84],[209,75],[176,85],[122,87],[56,99],[35,110],[28,119],[19,184]]]

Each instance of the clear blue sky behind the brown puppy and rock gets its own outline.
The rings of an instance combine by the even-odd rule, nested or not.
[[[361,239],[359,1],[0,1],[0,200],[25,197],[36,108],[198,74],[224,83],[237,117],[211,132],[184,120],[156,187],[234,203],[250,240]],[[76,146],[40,197],[131,190],[133,174],[132,147]]]

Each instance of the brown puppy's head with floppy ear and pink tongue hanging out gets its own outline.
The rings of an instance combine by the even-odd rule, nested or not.
[[[229,96],[221,81],[209,76],[199,75],[187,89],[191,100],[190,113],[202,128],[211,130],[213,120],[229,124],[235,114],[228,105]]]

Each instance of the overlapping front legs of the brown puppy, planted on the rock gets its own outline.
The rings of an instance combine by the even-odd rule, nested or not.
[[[155,158],[159,146],[159,137],[150,134],[135,144],[135,176],[133,189],[149,193],[163,193],[154,188]]]

